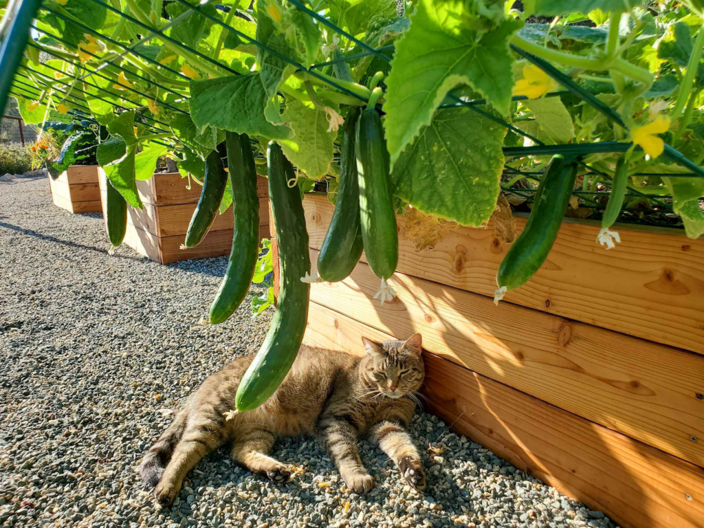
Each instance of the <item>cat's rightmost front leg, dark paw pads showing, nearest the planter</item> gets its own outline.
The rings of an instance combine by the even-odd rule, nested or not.
[[[406,479],[410,486],[415,489],[425,488],[425,472],[420,453],[403,426],[397,422],[384,420],[372,427],[369,434],[382,451],[394,460],[401,471],[401,477]]]

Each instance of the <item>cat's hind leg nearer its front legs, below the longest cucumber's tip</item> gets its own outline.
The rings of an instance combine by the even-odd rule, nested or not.
[[[274,433],[258,424],[243,424],[237,427],[232,446],[232,458],[253,473],[262,473],[276,484],[288,482],[291,470],[269,456],[274,447]]]

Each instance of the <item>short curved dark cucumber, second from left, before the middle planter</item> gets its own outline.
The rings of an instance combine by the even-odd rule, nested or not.
[[[220,208],[225,187],[227,187],[227,172],[222,165],[220,153],[212,151],[206,158],[206,175],[203,178],[201,197],[186,232],[186,241],[183,245],[187,248],[200,244],[215,222],[215,214]]]

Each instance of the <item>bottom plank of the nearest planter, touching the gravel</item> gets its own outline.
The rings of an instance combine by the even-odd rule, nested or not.
[[[359,355],[361,336],[395,339],[310,303],[304,343]],[[423,394],[455,431],[622,527],[704,526],[700,468],[439,356],[426,352],[424,358]]]

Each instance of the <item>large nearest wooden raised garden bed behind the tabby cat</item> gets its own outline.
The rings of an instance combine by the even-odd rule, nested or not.
[[[315,270],[333,206],[304,206]],[[508,246],[491,225],[420,253],[398,226],[398,297],[372,299],[363,256],[344,282],[313,284],[306,343],[363,353],[360,335],[421,332],[427,410],[455,431],[623,527],[703,525],[704,240],[620,227],[605,251],[598,225],[565,222],[494,306]]]

